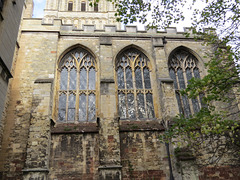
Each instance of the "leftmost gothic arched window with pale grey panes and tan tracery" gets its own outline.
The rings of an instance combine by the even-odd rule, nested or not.
[[[59,64],[59,122],[96,119],[96,61],[82,48],[67,53]]]

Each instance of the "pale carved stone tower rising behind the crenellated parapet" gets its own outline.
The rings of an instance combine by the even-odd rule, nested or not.
[[[115,5],[102,0],[95,6],[89,6],[87,0],[47,0],[44,10],[44,22],[61,19],[63,24],[73,24],[75,28],[82,28],[83,24],[94,25],[96,29],[103,29],[104,25],[121,24],[116,21]]]

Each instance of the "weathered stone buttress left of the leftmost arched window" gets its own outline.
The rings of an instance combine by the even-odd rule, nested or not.
[[[33,89],[24,180],[46,180],[50,153],[50,100],[52,79],[36,80]]]

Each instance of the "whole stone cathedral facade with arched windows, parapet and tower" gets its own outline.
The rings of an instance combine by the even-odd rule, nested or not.
[[[238,168],[176,163],[174,147],[158,138],[163,120],[201,108],[201,97],[190,101],[179,89],[206,74],[209,47],[175,28],[122,30],[104,0],[47,0],[43,19],[31,12],[3,116],[1,179],[240,177]]]

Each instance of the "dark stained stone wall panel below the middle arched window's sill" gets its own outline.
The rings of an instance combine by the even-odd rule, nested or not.
[[[120,133],[124,180],[169,179],[168,158],[159,134],[159,131]]]

